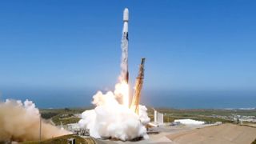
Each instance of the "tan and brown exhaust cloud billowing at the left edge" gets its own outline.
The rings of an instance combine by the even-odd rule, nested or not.
[[[26,100],[0,102],[0,142],[39,139],[40,114],[34,103]],[[42,139],[69,134],[42,121]]]

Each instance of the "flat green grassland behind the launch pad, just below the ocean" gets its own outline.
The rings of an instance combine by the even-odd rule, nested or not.
[[[74,114],[81,114],[83,111],[91,108],[65,108],[65,109],[43,109],[40,110],[42,118],[51,119],[56,125],[66,125],[75,123],[80,120]],[[222,110],[222,109],[193,109],[193,110],[178,110],[169,108],[158,108],[159,112],[165,114],[164,122],[174,122],[175,119],[190,118],[207,123],[212,122],[233,122],[228,119],[219,118],[219,116],[256,116],[256,110]],[[148,115],[151,121],[154,121],[154,110],[148,109]],[[218,117],[217,117],[218,116]]]

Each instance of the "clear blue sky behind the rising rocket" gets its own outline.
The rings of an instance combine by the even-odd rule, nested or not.
[[[125,7],[130,80],[145,57],[144,94],[219,90],[256,96],[253,0],[6,0],[0,2],[2,97],[33,99],[36,93],[18,96],[18,90],[112,90]]]

